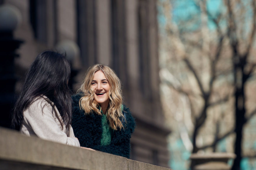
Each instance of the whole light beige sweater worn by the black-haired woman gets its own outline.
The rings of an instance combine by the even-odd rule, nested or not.
[[[67,145],[80,147],[78,139],[75,137],[71,125],[69,128],[63,126],[55,116],[55,112],[52,113],[53,102],[50,104],[45,99],[47,97],[38,97],[24,112],[23,123],[20,128],[20,132],[31,136],[36,135],[42,139],[50,140],[53,142],[63,143]],[[49,101],[49,99],[47,99]],[[55,106],[55,110],[61,121],[61,115]]]

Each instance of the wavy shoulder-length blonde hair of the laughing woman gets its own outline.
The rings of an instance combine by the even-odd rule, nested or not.
[[[85,79],[83,80],[81,88],[79,89],[84,93],[84,96],[79,100],[80,109],[83,109],[85,114],[90,114],[91,110],[94,110],[97,114],[101,114],[100,110],[97,109],[99,103],[94,100],[94,90],[91,87],[91,82],[94,78],[95,72],[97,71],[102,71],[104,73],[110,85],[110,100],[108,110],[106,111],[106,117],[109,121],[109,125],[114,130],[117,130],[118,127],[121,130],[121,128],[124,128],[122,122],[120,121],[120,118],[124,118],[121,110],[123,102],[121,81],[110,67],[95,64],[87,70]]]

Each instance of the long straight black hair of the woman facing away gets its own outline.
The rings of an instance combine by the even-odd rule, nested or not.
[[[70,64],[65,55],[54,51],[39,54],[26,73],[22,92],[14,107],[12,127],[20,129],[23,111],[42,95],[54,103],[68,127],[72,116],[72,99],[67,85],[69,77]]]

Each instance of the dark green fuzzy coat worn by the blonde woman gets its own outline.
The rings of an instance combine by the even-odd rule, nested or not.
[[[83,110],[80,110],[79,99],[81,96],[81,94],[72,96],[72,127],[75,137],[77,137],[80,142],[80,146],[129,158],[130,138],[135,129],[135,121],[129,109],[124,106],[123,114],[126,122],[124,120],[121,121],[124,129],[113,130],[110,145],[103,146],[100,145],[102,115],[95,113],[95,111],[91,111],[90,114],[85,114]]]

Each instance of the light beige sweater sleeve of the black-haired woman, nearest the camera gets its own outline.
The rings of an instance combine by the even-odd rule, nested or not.
[[[80,147],[74,136],[68,137],[57,124],[52,114],[52,106],[43,99],[38,99],[23,112],[24,124],[31,127],[38,137],[58,143]],[[71,129],[72,130],[72,129]],[[72,132],[71,132],[72,133]]]

